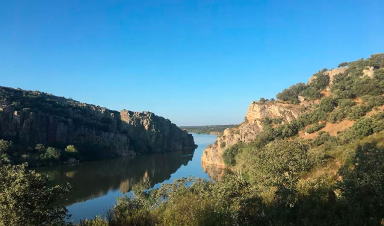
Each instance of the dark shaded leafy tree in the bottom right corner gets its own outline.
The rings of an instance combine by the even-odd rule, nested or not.
[[[384,150],[376,143],[359,146],[352,159],[354,167],[346,165],[340,173],[338,187],[346,203],[350,225],[380,225],[384,213]]]

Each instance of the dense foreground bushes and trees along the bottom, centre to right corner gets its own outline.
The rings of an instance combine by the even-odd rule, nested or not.
[[[282,145],[288,146],[284,153]],[[275,154],[277,150],[279,153]],[[279,151],[281,150],[281,151]],[[81,226],[371,226],[384,217],[384,150],[375,143],[358,147],[340,170],[343,180],[300,181],[313,162],[308,146],[279,141],[248,155],[249,179],[226,177],[220,183],[182,178],[160,189],[134,190],[119,198],[106,219]],[[243,152],[245,153],[245,152]],[[268,164],[263,164],[266,161]],[[352,166],[352,167],[350,167]],[[145,188],[145,187],[144,187]]]

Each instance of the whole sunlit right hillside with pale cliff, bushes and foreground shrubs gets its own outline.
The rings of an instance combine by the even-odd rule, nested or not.
[[[113,221],[384,225],[382,62],[384,54],[344,62],[284,89],[277,100],[253,101],[245,121],[203,152],[202,167],[216,182],[183,178],[144,195],[142,187],[134,199],[119,199]],[[151,206],[135,206],[140,202]],[[125,212],[127,206],[140,214]],[[100,222],[107,225],[85,225]]]

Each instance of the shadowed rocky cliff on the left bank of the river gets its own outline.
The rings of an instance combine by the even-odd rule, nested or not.
[[[118,155],[194,149],[192,135],[151,112],[112,111],[0,86],[0,139],[25,147],[95,144]]]

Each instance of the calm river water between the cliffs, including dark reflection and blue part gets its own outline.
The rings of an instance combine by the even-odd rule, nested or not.
[[[164,154],[140,155],[112,160],[84,162],[77,165],[41,167],[51,185],[69,182],[73,192],[60,201],[75,223],[104,215],[116,204],[116,198],[128,193],[135,183],[149,181],[151,186],[172,183],[181,177],[209,179],[201,168],[201,154],[216,139],[214,135],[193,134],[198,148],[194,151],[174,151]]]

